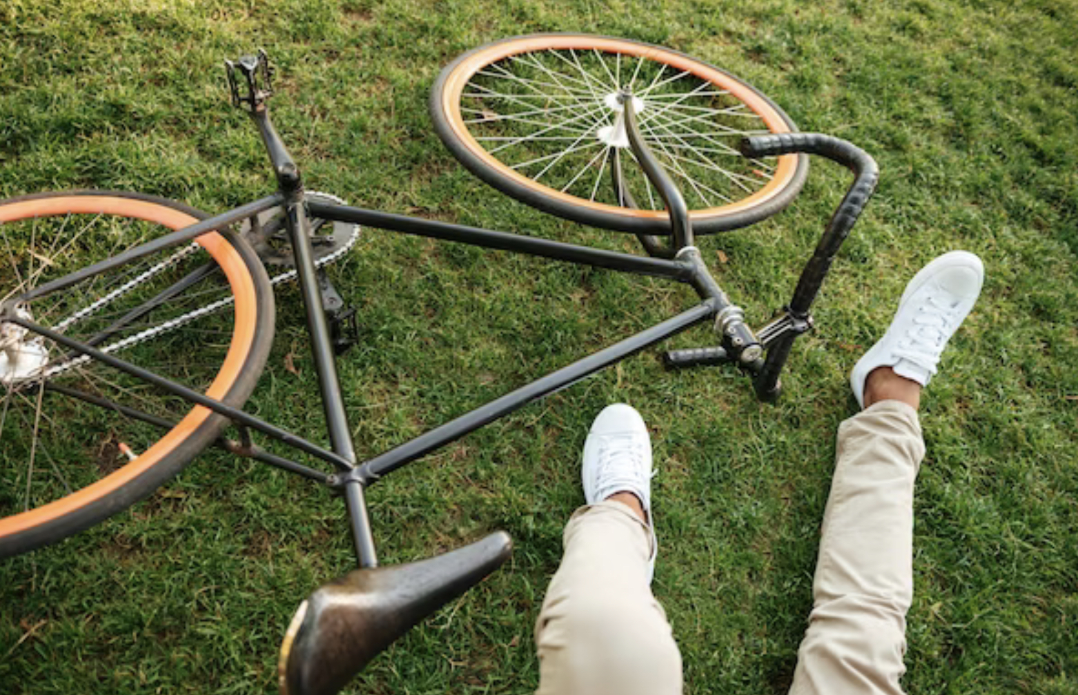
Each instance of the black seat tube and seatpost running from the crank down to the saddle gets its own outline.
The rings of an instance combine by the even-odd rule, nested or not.
[[[337,379],[336,357],[333,352],[333,343],[330,338],[329,325],[322,310],[321,294],[318,290],[314,251],[310,247],[310,223],[307,220],[307,213],[303,208],[300,195],[291,196],[287,205],[285,220],[292,242],[292,252],[295,256],[300,292],[306,308],[310,349],[315,359],[315,371],[318,374],[318,389],[322,397],[330,443],[334,453],[355,464],[356,449],[353,446],[351,431],[348,428],[344,399],[341,394],[341,383]],[[371,533],[371,523],[367,515],[362,483],[348,481],[345,485],[344,498],[359,565],[360,567],[377,567],[377,554],[374,548],[374,537]]]

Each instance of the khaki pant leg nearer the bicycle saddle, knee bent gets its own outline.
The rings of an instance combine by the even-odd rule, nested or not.
[[[583,506],[536,622],[537,695],[681,695],[681,654],[651,594],[651,540],[612,500]]]

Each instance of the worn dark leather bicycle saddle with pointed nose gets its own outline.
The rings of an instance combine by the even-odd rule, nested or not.
[[[382,650],[509,557],[505,531],[418,562],[360,569],[300,604],[280,645],[281,695],[332,695]]]

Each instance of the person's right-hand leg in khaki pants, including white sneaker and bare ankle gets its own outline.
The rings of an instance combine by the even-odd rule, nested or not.
[[[907,288],[851,386],[863,411],[839,428],[813,581],[813,610],[791,695],[899,695],[913,598],[913,484],[925,454],[921,388],[972,308],[983,268],[937,259]]]

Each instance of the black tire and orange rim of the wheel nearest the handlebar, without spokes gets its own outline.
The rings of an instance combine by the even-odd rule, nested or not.
[[[571,47],[565,47],[571,46]],[[677,68],[683,68],[686,74],[691,72],[693,78],[696,78],[700,82],[708,82],[716,84],[721,87],[731,87],[736,91],[740,97],[731,97],[733,101],[738,103],[744,103],[746,100],[750,101],[752,106],[747,107],[750,113],[763,114],[760,120],[766,125],[766,131],[770,133],[794,133],[797,131],[797,126],[793,121],[771,99],[763,95],[759,89],[748,84],[744,80],[741,80],[724,70],[710,66],[708,64],[695,60],[685,54],[678,53],[676,51],[671,51],[669,48],[664,48],[662,46],[655,46],[652,44],[641,43],[637,41],[628,41],[624,39],[614,39],[610,37],[600,36],[589,36],[589,34],[572,34],[572,33],[549,33],[549,34],[533,34],[525,37],[513,37],[510,39],[505,39],[502,41],[497,41],[490,43],[473,51],[470,51],[452,64],[450,64],[439,75],[438,81],[434,83],[434,87],[431,92],[430,97],[430,111],[431,116],[434,121],[434,129],[437,130],[439,137],[450,149],[450,151],[456,156],[472,173],[478,176],[480,179],[486,183],[493,185],[495,189],[506,193],[517,200],[526,203],[533,207],[536,207],[545,212],[556,214],[568,220],[573,220],[576,222],[581,222],[583,224],[589,224],[592,226],[605,227],[609,230],[616,230],[620,232],[631,232],[635,234],[654,234],[654,235],[665,235],[669,233],[669,222],[665,214],[665,211],[661,211],[661,200],[659,206],[652,205],[655,210],[633,210],[632,208],[621,206],[619,203],[613,204],[602,204],[597,203],[594,198],[595,191],[592,192],[592,199],[583,198],[576,195],[566,195],[563,191],[557,191],[556,189],[547,186],[538,181],[530,179],[528,176],[521,175],[514,170],[513,167],[521,167],[523,165],[516,164],[509,166],[503,164],[493,155],[488,153],[486,149],[479,143],[479,141],[473,137],[468,127],[467,120],[461,115],[460,110],[460,99],[465,95],[465,87],[470,83],[473,75],[479,73],[484,68],[495,65],[502,65],[503,61],[512,61],[517,59],[519,56],[531,57],[531,54],[539,54],[544,51],[592,51],[598,56],[598,51],[605,54],[627,54],[632,57],[639,57],[642,62],[642,58],[647,57],[651,60],[655,60],[657,65],[677,65]],[[657,57],[658,56],[658,57]],[[573,56],[576,59],[576,55]],[[617,58],[620,62],[620,56]],[[523,61],[523,59],[517,59],[517,62]],[[512,65],[509,62],[507,65]],[[650,65],[650,64],[649,64]],[[496,68],[499,72],[502,70],[508,71],[503,67]],[[664,68],[665,69],[665,68]],[[549,72],[549,70],[548,70]],[[489,71],[484,74],[489,75]],[[703,75],[703,77],[702,77]],[[497,75],[495,75],[497,77]],[[620,77],[620,75],[619,75]],[[635,74],[633,75],[635,79]],[[566,78],[568,81],[570,78]],[[561,80],[553,78],[553,80],[558,82],[556,86],[565,86]],[[720,82],[721,81],[721,82]],[[542,84],[538,83],[537,84]],[[551,87],[555,85],[549,85]],[[484,88],[484,87],[479,87]],[[556,91],[556,89],[554,89]],[[489,94],[494,94],[494,91],[487,89]],[[472,98],[490,98],[496,99],[497,97],[484,96],[484,95],[467,95]],[[520,95],[517,95],[516,100],[520,101]],[[589,105],[599,105],[600,99],[596,95],[592,95],[593,98],[590,100],[588,97],[583,97],[584,106],[581,109],[591,108]],[[742,98],[743,97],[743,98]],[[502,96],[503,99],[510,99],[514,97]],[[528,97],[528,98],[539,98],[539,97]],[[563,97],[564,98],[564,97]],[[578,97],[579,98],[579,97]],[[609,96],[608,96],[609,98]],[[609,103],[609,102],[608,102]],[[476,106],[481,106],[482,101]],[[530,102],[528,102],[530,106]],[[563,106],[551,111],[564,110],[570,107]],[[679,107],[680,108],[680,107]],[[471,109],[476,111],[475,109]],[[661,109],[654,115],[660,115],[663,111],[667,109]],[[479,110],[479,111],[482,111]],[[603,109],[599,107],[598,112]],[[528,114],[536,113],[529,111]],[[570,115],[575,113],[570,111]],[[547,114],[549,116],[549,113]],[[607,114],[609,115],[609,114]],[[737,115],[749,115],[749,113],[737,114]],[[483,115],[481,119],[473,119],[472,121],[484,122],[495,122],[501,119],[510,119],[511,116],[503,116],[502,114],[495,113],[493,116]],[[541,116],[535,116],[541,117]],[[577,117],[570,117],[569,121],[576,121]],[[647,113],[641,113],[639,119],[641,124],[647,121]],[[545,123],[539,124],[540,131],[553,131],[545,127]],[[552,126],[562,127],[562,126]],[[576,126],[573,126],[576,127]],[[614,126],[617,127],[617,126]],[[721,127],[721,126],[720,126]],[[724,128],[729,129],[729,128]],[[762,131],[761,131],[762,133]],[[728,135],[723,133],[722,135]],[[663,137],[668,137],[664,135]],[[490,140],[501,139],[508,140],[509,138],[488,138]],[[529,140],[530,138],[524,137],[521,140]],[[544,137],[543,139],[557,139]],[[562,138],[565,140],[571,139],[570,137]],[[600,138],[602,139],[602,138]],[[648,140],[647,134],[645,139]],[[572,144],[576,145],[580,142],[577,139]],[[530,144],[535,144],[535,140],[531,140]],[[654,141],[649,142],[652,149],[655,150]],[[732,143],[736,147],[736,142]],[[505,145],[502,145],[505,147]],[[586,143],[585,145],[586,147]],[[608,144],[607,149],[612,145]],[[723,147],[724,143],[723,143]],[[498,148],[501,149],[501,148]],[[571,145],[570,145],[571,149]],[[724,152],[724,151],[723,151]],[[655,154],[663,159],[663,152],[657,151]],[[553,156],[549,155],[549,156]],[[676,155],[672,155],[675,156]],[[538,157],[533,159],[533,162],[538,162],[547,157]],[[561,157],[558,157],[561,158]],[[597,155],[596,155],[597,158]],[[672,159],[664,162],[667,169],[671,167]],[[606,158],[604,158],[603,164],[605,165]],[[527,163],[525,163],[527,164]],[[593,166],[595,159],[590,162],[585,166]],[[677,162],[674,162],[674,167],[677,167]],[[688,168],[689,165],[686,165]],[[543,170],[545,171],[545,169]],[[581,170],[583,171],[583,170]],[[771,181],[773,179],[778,179],[778,172],[782,172],[782,178],[779,181],[772,185]],[[716,232],[723,232],[728,230],[734,230],[737,227],[743,227],[748,224],[758,222],[769,216],[772,216],[783,208],[785,208],[789,203],[797,196],[800,192],[801,186],[804,184],[805,177],[808,172],[808,157],[803,154],[798,155],[785,155],[779,159],[779,164],[776,166],[776,175],[764,184],[763,190],[766,190],[765,195],[757,196],[755,193],[749,193],[749,195],[743,200],[734,200],[730,204],[723,204],[721,206],[715,206],[710,208],[702,208],[700,206],[693,206],[690,201],[690,216],[693,221],[693,228],[700,234],[710,234]],[[677,171],[672,171],[674,176],[677,176]],[[760,173],[756,171],[756,173]],[[540,172],[539,176],[542,176]],[[580,175],[578,175],[579,177]],[[602,168],[596,175],[596,183],[603,176]],[[735,173],[734,176],[738,178],[741,175]],[[760,177],[763,178],[763,173]],[[687,178],[688,177],[687,175]],[[730,177],[733,181],[733,177]],[[576,181],[576,179],[573,179]],[[685,182],[679,182],[682,184],[682,192],[686,193]],[[570,181],[569,185],[572,185]],[[642,184],[646,185],[646,184]],[[743,185],[737,183],[737,185]],[[706,186],[705,186],[706,187]],[[769,190],[770,189],[770,190]],[[701,193],[701,201],[706,201],[705,194],[697,189]],[[691,194],[691,192],[688,192]],[[714,191],[713,191],[714,193]],[[740,194],[740,192],[737,192]],[[612,195],[612,194],[611,194]],[[717,194],[721,195],[721,194]],[[637,203],[640,204],[640,198],[642,196],[637,195]],[[687,195],[689,198],[690,195]],[[754,200],[754,197],[759,197],[758,200]],[[642,200],[647,203],[647,200]],[[654,201],[652,201],[654,203]],[[641,205],[641,207],[647,207]]]

